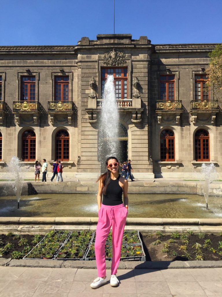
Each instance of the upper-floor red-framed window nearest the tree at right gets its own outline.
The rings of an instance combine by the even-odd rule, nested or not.
[[[195,74],[195,100],[204,101],[210,98],[210,88],[206,86],[209,81],[205,74]]]

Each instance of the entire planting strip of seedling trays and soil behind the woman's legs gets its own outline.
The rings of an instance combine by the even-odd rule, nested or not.
[[[140,236],[139,236],[140,235]],[[141,239],[140,239],[141,238]],[[50,239],[50,243],[46,242]],[[43,259],[45,247],[53,249],[52,259],[94,260],[94,240],[92,231],[50,231],[46,236],[20,235],[9,232],[0,235],[0,257],[12,259]],[[107,260],[111,260],[112,236],[109,234],[105,244]],[[34,254],[38,251],[38,255]],[[40,251],[40,252],[39,252]],[[164,235],[138,231],[125,231],[121,250],[121,260],[144,261],[174,260],[222,260],[222,233],[219,235],[195,233],[171,233]]]

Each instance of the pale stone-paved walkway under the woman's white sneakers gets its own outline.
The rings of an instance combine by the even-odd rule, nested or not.
[[[89,286],[96,269],[0,267],[0,297],[222,296],[222,268],[119,269],[120,285]],[[110,270],[107,270],[110,278]]]

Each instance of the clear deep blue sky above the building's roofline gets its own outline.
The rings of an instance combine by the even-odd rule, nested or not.
[[[0,45],[75,45],[112,34],[114,0],[1,0]],[[221,43],[222,0],[115,0],[115,33],[153,44]]]

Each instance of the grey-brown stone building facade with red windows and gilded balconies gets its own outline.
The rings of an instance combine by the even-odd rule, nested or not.
[[[0,174],[17,156],[30,175],[45,158],[61,159],[67,177],[97,177],[102,90],[113,74],[121,161],[132,160],[136,178],[194,178],[212,162],[220,178],[220,94],[204,74],[215,46],[154,45],[131,34],[1,46]]]

